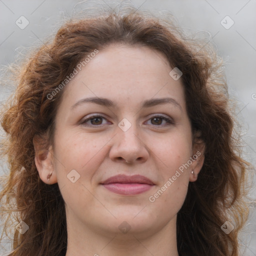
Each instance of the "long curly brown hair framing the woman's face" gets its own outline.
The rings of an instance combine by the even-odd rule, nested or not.
[[[237,256],[237,234],[247,215],[243,200],[247,163],[238,150],[221,59],[210,43],[203,46],[172,21],[133,7],[66,22],[53,40],[15,71],[17,88],[1,118],[6,132],[1,153],[7,156],[9,172],[2,177],[0,216],[6,220],[6,234],[8,228],[10,233],[15,230],[13,217],[29,229],[23,234],[15,230],[9,256],[65,255],[64,201],[57,183],[47,185],[39,178],[33,138],[39,135],[51,142],[64,88],[54,95],[52,91],[95,48],[100,52],[115,42],[158,50],[170,66],[182,71],[192,132],[205,143],[203,166],[197,181],[189,182],[177,214],[179,255]],[[228,234],[221,230],[226,220],[234,226]]]

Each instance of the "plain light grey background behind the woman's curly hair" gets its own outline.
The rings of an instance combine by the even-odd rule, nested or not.
[[[103,3],[103,1],[97,2]],[[109,3],[108,0],[105,2]],[[218,54],[225,60],[229,93],[238,100],[237,118],[243,124],[244,157],[255,166],[256,0],[132,0],[131,2],[141,9],[169,10],[188,33],[200,31],[205,34],[207,31],[211,34]],[[1,66],[13,62],[21,50],[42,44],[44,38],[56,31],[64,19],[84,8],[84,3],[77,3],[78,0],[0,0]],[[22,15],[29,22],[24,29],[20,29],[15,23]],[[234,22],[229,29],[221,25],[221,20],[227,15]],[[231,21],[227,19],[224,22],[229,25]],[[2,85],[0,101],[3,102],[11,91],[11,87]],[[0,169],[0,175],[2,174],[3,171]],[[256,255],[256,189],[251,189],[250,197],[249,219],[241,232],[241,244],[244,249],[242,255],[245,256]],[[8,243],[1,245],[7,250],[10,248]],[[0,255],[4,252],[6,251],[0,246]]]

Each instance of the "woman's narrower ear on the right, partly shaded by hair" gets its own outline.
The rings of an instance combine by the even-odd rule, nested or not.
[[[205,143],[201,139],[196,139],[193,143],[193,155],[190,157],[192,164],[190,165],[191,172],[189,173],[189,181],[194,182],[197,179],[203,161],[204,161]]]

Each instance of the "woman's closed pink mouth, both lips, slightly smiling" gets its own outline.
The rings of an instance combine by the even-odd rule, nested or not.
[[[100,183],[111,192],[122,195],[134,195],[148,191],[155,184],[142,175],[116,175]]]

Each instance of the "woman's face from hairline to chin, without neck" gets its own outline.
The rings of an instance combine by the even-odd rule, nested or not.
[[[64,88],[50,155],[69,226],[150,235],[175,224],[200,152],[172,69],[148,47],[110,45]]]

